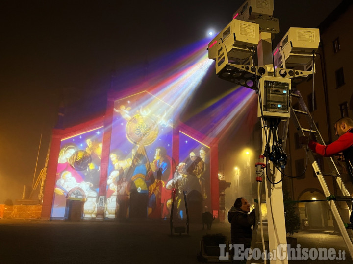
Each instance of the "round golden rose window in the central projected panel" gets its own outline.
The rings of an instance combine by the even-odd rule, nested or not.
[[[137,145],[150,145],[158,136],[158,124],[149,116],[135,115],[126,125],[127,139]]]

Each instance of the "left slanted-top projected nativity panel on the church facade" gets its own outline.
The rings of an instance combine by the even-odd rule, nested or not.
[[[82,201],[83,217],[96,217],[103,128],[61,140],[51,218],[69,218],[70,201]]]

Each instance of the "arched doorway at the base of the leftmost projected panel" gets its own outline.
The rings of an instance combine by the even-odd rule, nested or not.
[[[65,219],[80,221],[83,216],[83,207],[86,194],[80,187],[72,188],[66,196]]]

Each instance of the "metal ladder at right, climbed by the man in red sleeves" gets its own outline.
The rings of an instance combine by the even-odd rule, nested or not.
[[[296,129],[297,129],[297,132],[299,133],[299,136],[307,136],[308,133],[310,132],[310,128],[309,129],[303,128],[298,120],[299,115],[304,115],[306,117],[306,121],[307,121],[307,124],[309,125],[309,127],[312,124],[311,133],[313,133],[315,135],[316,141],[321,145],[325,145],[325,142],[324,142],[315,122],[312,122],[312,117],[310,115],[308,108],[306,107],[306,105],[304,103],[304,100],[301,96],[300,91],[297,90],[294,93],[292,93],[292,97],[298,99],[298,103],[302,109],[302,110],[295,110],[295,109],[293,109],[293,107],[291,107],[291,119],[296,126]],[[306,148],[306,146],[303,146],[303,148]],[[342,195],[343,195],[341,197],[336,196],[337,197],[336,200],[343,200],[346,202],[351,202],[353,197],[351,197],[346,186],[344,185],[344,183],[341,179],[340,173],[339,173],[335,163],[333,162],[332,157],[326,158],[326,160],[328,161],[327,163],[328,163],[328,167],[329,167],[329,172],[328,172],[328,174],[327,173],[324,174],[321,172],[320,167],[319,167],[317,161],[315,160],[314,154],[309,150],[307,155],[308,155],[308,160],[310,161],[310,163],[314,169],[314,172],[320,182],[320,185],[324,191],[325,197],[327,197],[327,199],[328,199],[328,206],[331,209],[331,213],[332,213],[334,219],[336,220],[336,223],[337,223],[337,226],[338,226],[339,231],[341,233],[341,236],[343,237],[343,240],[346,243],[346,246],[347,246],[348,251],[351,255],[351,258],[353,259],[352,240],[351,240],[351,238],[347,232],[346,226],[343,223],[343,220],[339,214],[337,205],[334,201],[335,196],[332,195],[330,190],[328,189],[328,186],[325,182],[324,176],[333,176],[335,178],[336,183],[337,183],[338,187],[340,188]],[[351,209],[350,209],[350,211],[351,211]]]

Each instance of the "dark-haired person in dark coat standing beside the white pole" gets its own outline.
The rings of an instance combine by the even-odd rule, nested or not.
[[[243,197],[235,200],[234,206],[228,212],[230,222],[231,243],[244,245],[244,250],[250,247],[252,239],[252,225],[255,223],[255,209],[250,214],[250,204]],[[239,246],[238,246],[239,248]],[[239,256],[235,252],[235,256]],[[236,262],[233,262],[236,263]],[[240,261],[238,263],[243,263]],[[244,260],[246,263],[246,260]]]

